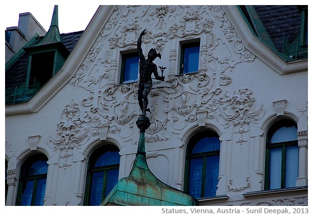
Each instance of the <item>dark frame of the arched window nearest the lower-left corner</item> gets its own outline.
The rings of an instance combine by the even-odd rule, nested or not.
[[[37,174],[37,175],[31,175],[31,176],[25,176],[26,173],[26,168],[29,168],[30,164],[34,164],[35,162],[38,161],[45,161],[47,162],[48,159],[45,155],[43,154],[35,154],[30,156],[28,159],[26,159],[22,166],[21,166],[21,172],[20,172],[20,180],[18,183],[18,192],[17,192],[17,198],[16,198],[16,205],[22,205],[22,196],[23,196],[23,185],[24,183],[33,180],[34,184],[33,184],[33,189],[32,189],[32,198],[31,198],[31,204],[30,206],[34,206],[35,201],[36,201],[36,192],[38,190],[37,188],[37,184],[38,184],[38,180],[42,180],[45,179],[47,180],[47,172],[44,174]],[[48,164],[47,164],[47,168],[48,168]],[[46,181],[45,181],[46,183]],[[44,189],[44,194],[45,194],[45,189]],[[43,200],[42,200],[43,203]]]

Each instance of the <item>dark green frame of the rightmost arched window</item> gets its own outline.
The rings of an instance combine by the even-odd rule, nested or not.
[[[270,183],[270,165],[271,165],[271,157],[270,153],[272,149],[282,149],[282,161],[281,161],[281,181],[280,181],[280,188],[276,189],[284,189],[286,188],[286,157],[287,157],[287,148],[288,147],[298,147],[298,141],[297,140],[289,140],[289,141],[282,141],[282,142],[274,142],[271,143],[271,138],[273,134],[280,128],[291,125],[295,126],[297,128],[297,125],[292,120],[283,119],[275,122],[268,130],[267,133],[267,139],[266,139],[266,163],[265,163],[265,183],[264,183],[264,189],[265,190],[275,190],[270,189],[271,183]],[[298,151],[299,154],[299,151]],[[299,166],[299,155],[298,155],[298,166]],[[297,173],[298,175],[298,173]]]

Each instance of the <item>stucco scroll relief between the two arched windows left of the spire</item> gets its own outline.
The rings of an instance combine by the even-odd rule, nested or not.
[[[61,121],[57,127],[57,137],[49,136],[47,145],[54,149],[60,150],[59,167],[66,170],[72,165],[74,148],[80,149],[91,135],[98,133],[97,126],[100,121],[97,117],[89,118],[83,115],[78,104],[72,99],[71,103],[66,105],[61,114]]]

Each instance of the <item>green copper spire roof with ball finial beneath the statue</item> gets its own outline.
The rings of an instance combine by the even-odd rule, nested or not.
[[[150,122],[141,115],[136,124],[140,137],[133,168],[128,177],[119,180],[101,205],[197,205],[192,196],[163,183],[149,170],[145,157],[145,130]]]

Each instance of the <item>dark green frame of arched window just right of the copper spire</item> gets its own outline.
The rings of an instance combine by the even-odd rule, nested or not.
[[[190,194],[189,188],[190,188],[190,164],[192,159],[202,158],[202,180],[201,180],[201,195],[200,197],[196,198],[205,198],[205,179],[206,179],[206,168],[207,168],[207,158],[208,157],[215,157],[219,156],[219,168],[220,168],[220,150],[210,151],[210,152],[201,152],[201,153],[192,153],[192,150],[196,146],[196,144],[205,137],[217,137],[219,139],[219,135],[212,131],[212,130],[204,130],[196,133],[191,137],[191,139],[188,141],[187,145],[187,151],[186,151],[186,164],[185,164],[185,178],[184,178],[184,191],[188,194]],[[221,146],[221,141],[220,141]],[[218,168],[218,169],[219,169]],[[216,196],[216,194],[215,194]],[[214,196],[208,196],[208,197],[214,197]]]

